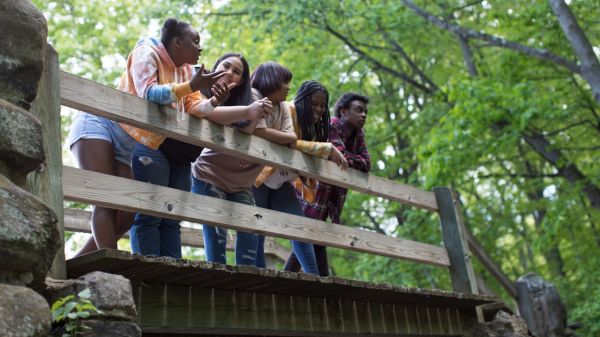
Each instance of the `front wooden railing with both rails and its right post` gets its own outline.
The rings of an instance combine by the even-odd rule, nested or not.
[[[458,199],[446,187],[433,192],[350,169],[246,135],[208,120],[177,121],[176,112],[95,82],[60,73],[61,104],[162,133],[286,171],[438,212],[444,247],[293,216],[96,172],[63,167],[64,198],[194,223],[312,242],[449,268],[453,289],[477,293]]]

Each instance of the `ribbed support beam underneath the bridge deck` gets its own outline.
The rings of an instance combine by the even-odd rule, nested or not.
[[[153,334],[461,336],[473,308],[399,305],[132,282],[138,325]]]

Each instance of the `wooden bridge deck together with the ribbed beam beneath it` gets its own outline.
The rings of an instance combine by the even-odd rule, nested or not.
[[[220,335],[259,336],[459,336],[476,321],[476,306],[497,300],[352,280],[337,282],[341,291],[314,297],[305,290],[331,286],[332,278],[303,280],[299,277],[302,274],[284,272],[265,276],[255,267],[144,257],[107,249],[68,261],[71,277],[94,266],[103,267],[105,272],[122,271],[131,280],[137,323],[144,334],[218,331]],[[132,272],[134,266],[158,277],[137,278]],[[163,282],[166,279],[161,276],[193,273],[196,279],[187,284]],[[265,287],[254,289],[251,284]],[[282,291],[279,284],[291,286]],[[380,296],[373,296],[378,292]],[[363,297],[380,300],[358,300]]]

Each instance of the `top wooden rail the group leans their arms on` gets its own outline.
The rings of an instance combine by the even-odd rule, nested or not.
[[[160,109],[154,103],[66,72],[61,73],[60,81],[61,102],[65,106],[337,186],[430,211],[438,210],[435,196],[431,192],[354,169],[342,172],[329,160],[308,156],[301,151],[236,132],[208,120],[189,118],[177,121],[176,112],[172,109]]]

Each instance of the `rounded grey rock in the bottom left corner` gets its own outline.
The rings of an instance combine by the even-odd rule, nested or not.
[[[0,331],[3,337],[41,337],[50,331],[50,307],[35,291],[0,284]]]

